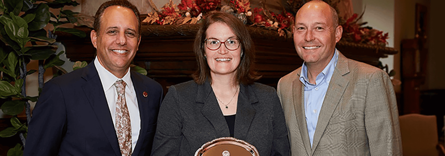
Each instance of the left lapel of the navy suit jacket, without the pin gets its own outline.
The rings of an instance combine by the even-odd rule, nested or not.
[[[102,130],[107,136],[114,153],[116,156],[120,156],[121,150],[117,141],[116,131],[114,130],[113,119],[111,118],[108,103],[105,99],[105,93],[99,78],[99,74],[97,74],[97,70],[93,62],[85,67],[82,78],[86,80],[85,85],[82,86],[85,96],[93,108],[93,111],[96,114],[96,117],[99,120]]]

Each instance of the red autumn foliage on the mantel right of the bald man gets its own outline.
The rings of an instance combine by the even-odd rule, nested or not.
[[[342,40],[354,43],[363,43],[368,45],[386,46],[388,44],[388,33],[373,29],[366,25],[368,22],[358,23],[363,13],[358,16],[356,13],[344,22]]]

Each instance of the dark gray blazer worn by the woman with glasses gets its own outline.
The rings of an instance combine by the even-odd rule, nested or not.
[[[193,156],[208,141],[230,136],[209,82],[171,86],[161,104],[152,156]],[[289,156],[287,128],[275,89],[240,85],[234,137],[254,145],[260,156]]]

